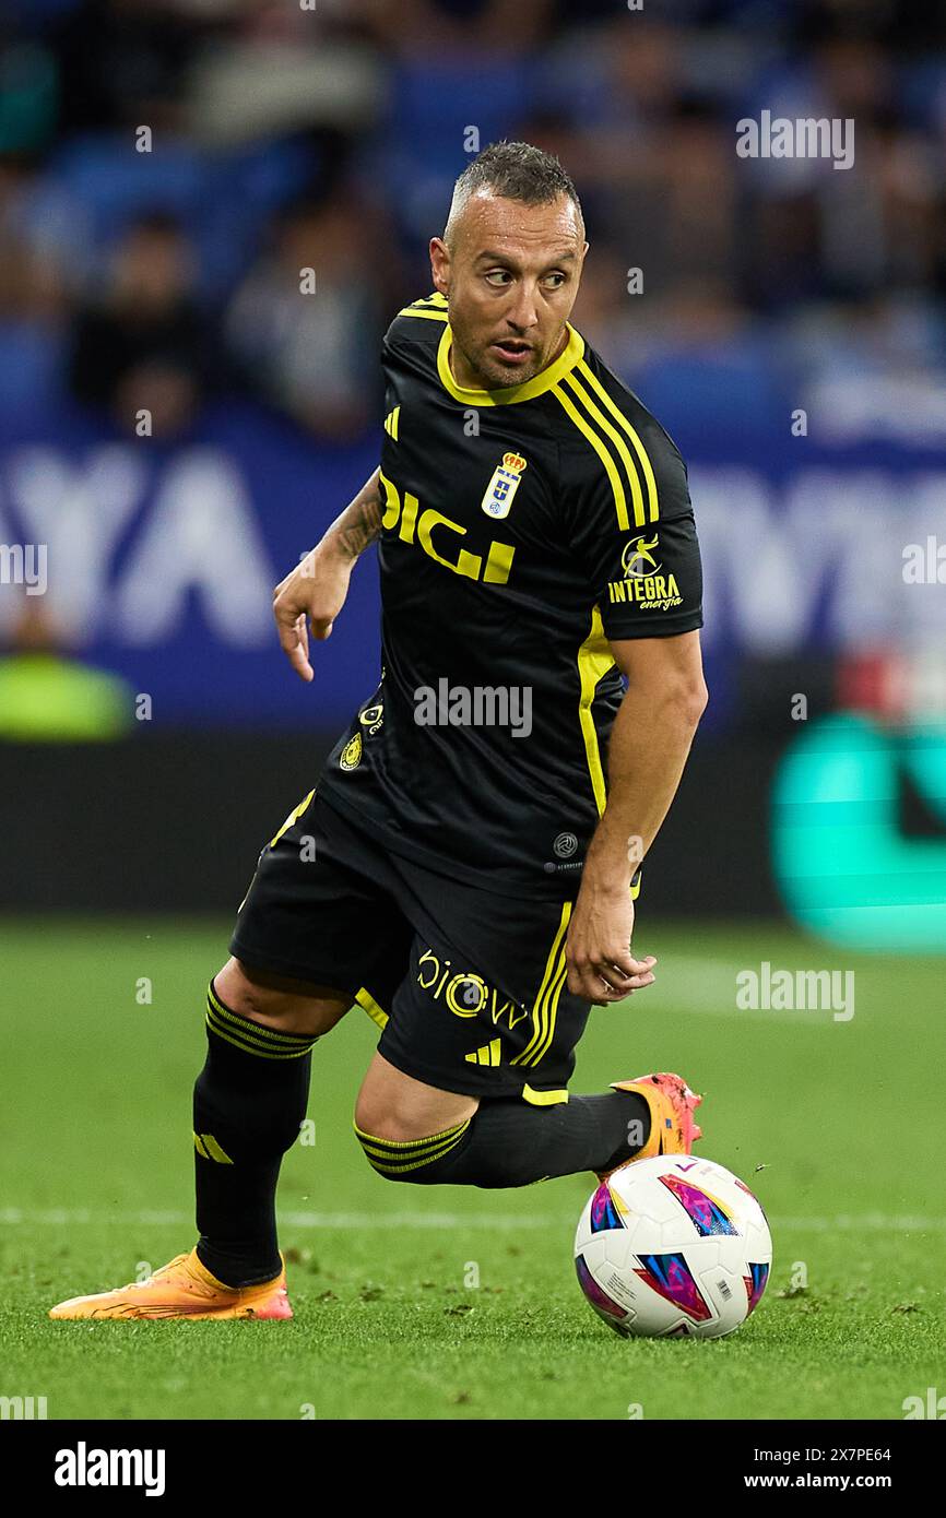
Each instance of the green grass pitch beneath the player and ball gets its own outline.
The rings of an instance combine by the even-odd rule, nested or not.
[[[700,1152],[758,1190],[774,1239],[736,1334],[632,1342],[598,1321],[571,1261],[591,1176],[518,1192],[377,1176],[351,1131],[375,1043],[358,1009],[316,1046],[316,1142],[284,1164],[295,1321],[50,1322],[62,1296],[193,1243],[190,1090],[226,926],[0,929],[0,1394],[46,1397],[56,1419],[899,1419],[907,1397],[946,1390],[943,961],[644,914],[635,946],[659,981],[592,1014],[572,1087],[668,1069],[706,1093]],[[764,959],[855,970],[853,1019],[738,1011],[735,976]]]

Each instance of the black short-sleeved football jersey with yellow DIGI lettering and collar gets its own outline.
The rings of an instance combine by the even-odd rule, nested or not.
[[[460,387],[446,301],[383,345],[381,682],[319,794],[393,852],[565,894],[607,798],[609,639],[702,627],[686,466],[568,328],[542,373]]]

